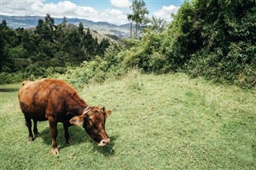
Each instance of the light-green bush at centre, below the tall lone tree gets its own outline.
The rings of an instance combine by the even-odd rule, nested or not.
[[[127,50],[124,56],[126,68],[138,68],[144,72],[166,73],[170,71],[170,61],[166,56],[165,34],[158,34],[147,30],[141,41]]]

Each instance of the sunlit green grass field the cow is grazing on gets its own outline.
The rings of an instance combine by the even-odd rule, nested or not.
[[[87,85],[89,105],[113,109],[106,121],[111,144],[98,145],[82,127],[70,127],[60,154],[50,152],[50,129],[28,142],[18,86],[0,87],[0,169],[256,169],[256,90],[214,85],[182,73],[142,75]]]

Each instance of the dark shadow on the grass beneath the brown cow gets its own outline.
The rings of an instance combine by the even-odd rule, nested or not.
[[[98,147],[98,144],[94,142],[90,138],[90,136],[86,133],[85,129],[78,126],[70,126],[69,128],[70,138],[72,142],[70,144],[66,144],[66,140],[64,137],[64,128],[62,124],[58,125],[58,136],[57,136],[57,144],[58,148],[61,150],[62,148],[67,148],[72,145],[78,145],[82,143],[92,143],[94,145],[94,151],[102,153],[104,156],[114,155],[114,140],[118,138],[118,136],[110,136],[110,144],[105,147]],[[50,136],[50,127],[44,128],[40,131],[40,138],[42,138],[43,142],[49,146],[51,146],[51,136]],[[36,140],[36,139],[35,139]]]

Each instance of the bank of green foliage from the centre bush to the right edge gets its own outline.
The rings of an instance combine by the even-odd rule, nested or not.
[[[126,54],[126,64],[249,86],[256,77],[255,23],[254,0],[186,1],[166,31],[144,33]]]

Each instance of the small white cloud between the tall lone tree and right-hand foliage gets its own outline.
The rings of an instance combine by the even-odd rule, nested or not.
[[[171,14],[176,14],[179,6],[162,6],[161,10],[154,12],[154,17],[165,19],[167,22],[172,21]]]

